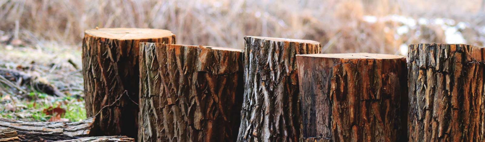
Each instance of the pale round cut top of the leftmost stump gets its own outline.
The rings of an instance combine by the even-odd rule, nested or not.
[[[84,31],[86,34],[116,40],[140,40],[171,37],[169,30],[152,28],[98,28]]]

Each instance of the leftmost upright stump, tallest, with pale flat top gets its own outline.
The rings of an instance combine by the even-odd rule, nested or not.
[[[84,33],[86,114],[96,116],[92,130],[95,136],[136,138],[138,134],[140,42],[175,43],[175,35],[148,28],[99,28]]]

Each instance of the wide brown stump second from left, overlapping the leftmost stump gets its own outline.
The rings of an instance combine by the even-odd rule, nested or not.
[[[140,45],[139,142],[234,142],[242,50]]]

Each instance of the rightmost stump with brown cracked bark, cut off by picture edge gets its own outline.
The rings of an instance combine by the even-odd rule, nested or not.
[[[409,141],[484,142],[484,49],[409,45]]]

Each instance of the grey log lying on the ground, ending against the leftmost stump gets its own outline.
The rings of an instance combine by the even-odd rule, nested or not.
[[[22,141],[58,141],[90,136],[93,118],[81,122],[25,122],[0,118],[0,129],[11,128]]]

